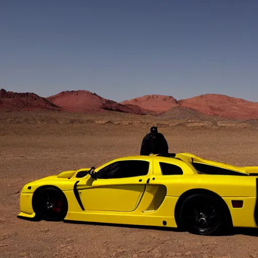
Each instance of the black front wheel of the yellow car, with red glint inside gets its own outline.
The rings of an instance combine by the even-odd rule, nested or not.
[[[68,212],[66,196],[55,187],[37,190],[32,205],[36,218],[46,221],[62,221]]]

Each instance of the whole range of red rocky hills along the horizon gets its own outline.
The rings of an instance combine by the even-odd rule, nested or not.
[[[139,115],[164,115],[175,107],[183,108],[180,114],[186,110],[195,110],[200,114],[229,119],[258,119],[258,102],[221,94],[203,94],[181,100],[166,95],[145,95],[118,103],[87,90],[62,91],[46,98],[34,93],[14,93],[4,89],[0,91],[0,110],[7,111],[105,112],[109,110]]]

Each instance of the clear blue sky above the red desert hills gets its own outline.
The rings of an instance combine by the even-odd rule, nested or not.
[[[257,0],[2,0],[0,88],[258,102]]]

